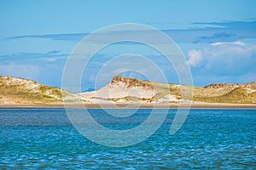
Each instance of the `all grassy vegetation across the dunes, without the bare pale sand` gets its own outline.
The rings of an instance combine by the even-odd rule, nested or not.
[[[189,99],[189,95],[182,98],[181,90],[186,94],[187,89],[193,90],[193,100],[208,103],[256,103],[256,82],[243,85],[238,84],[211,84],[205,88],[189,87],[185,85],[165,84],[158,82],[141,81],[135,78],[113,77],[112,83],[125,82],[125,88],[143,88],[146,91],[154,91],[151,98],[135,96],[125,96],[124,98],[103,99],[114,102],[157,102],[166,99],[166,95],[171,94],[176,99]],[[188,94],[188,93],[187,93]],[[44,86],[35,81],[22,78],[1,77],[0,76],[0,104],[58,104],[62,102],[62,97],[67,97],[70,103],[86,102],[89,100],[78,99],[73,94],[60,88]],[[92,99],[101,99],[93,97]]]

